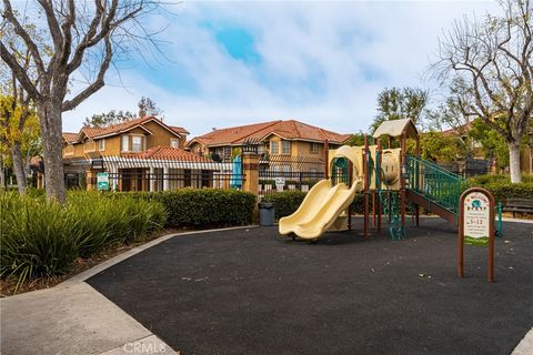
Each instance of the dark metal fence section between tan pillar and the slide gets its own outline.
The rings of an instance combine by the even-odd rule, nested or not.
[[[308,192],[324,179],[324,160],[319,156],[259,156],[259,197],[294,190]]]

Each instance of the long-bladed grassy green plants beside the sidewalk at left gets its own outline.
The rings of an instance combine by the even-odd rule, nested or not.
[[[143,240],[167,219],[159,203],[102,199],[95,192],[69,192],[63,205],[3,193],[0,210],[0,277],[18,277],[19,284],[69,273],[78,257]]]

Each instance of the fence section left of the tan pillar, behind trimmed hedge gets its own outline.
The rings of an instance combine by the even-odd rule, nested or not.
[[[217,163],[202,158],[197,161],[104,156],[93,160],[95,171],[108,173],[112,191],[167,191],[192,189],[242,189],[242,166]],[[97,184],[97,176],[88,179]]]

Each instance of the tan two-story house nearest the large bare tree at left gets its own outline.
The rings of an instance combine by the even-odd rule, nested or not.
[[[220,166],[184,151],[188,134],[155,116],[64,132],[67,186],[94,189],[98,172],[107,172],[110,189],[117,191],[212,186]]]

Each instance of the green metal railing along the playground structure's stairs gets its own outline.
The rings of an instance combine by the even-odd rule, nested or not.
[[[408,155],[406,165],[408,189],[459,214],[459,199],[469,187],[466,179],[415,155]]]

